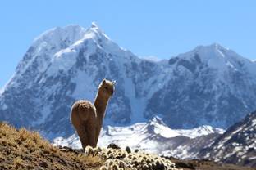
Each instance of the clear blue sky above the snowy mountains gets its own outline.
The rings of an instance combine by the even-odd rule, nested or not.
[[[0,2],[0,88],[43,31],[92,21],[138,56],[170,58],[217,42],[256,59],[255,0],[7,0]]]

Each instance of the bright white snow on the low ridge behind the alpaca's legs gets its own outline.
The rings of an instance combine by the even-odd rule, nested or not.
[[[149,128],[150,127],[150,128]],[[153,127],[153,132],[151,128]],[[210,126],[204,126],[193,129],[171,129],[166,124],[162,123],[162,119],[156,117],[151,119],[148,123],[135,123],[126,127],[104,127],[100,133],[98,145],[106,147],[110,143],[116,143],[121,148],[125,148],[127,145],[132,149],[139,148],[154,154],[163,154],[161,147],[159,146],[159,138],[171,139],[176,136],[187,136],[194,138],[197,136],[203,136],[213,133],[214,128]],[[154,136],[154,137],[153,137]],[[153,138],[152,138],[153,137]],[[70,146],[72,148],[81,148],[78,136],[72,135],[68,138],[57,137],[53,140],[54,145]],[[167,143],[165,146],[171,145]],[[184,150],[186,152],[186,150]],[[185,153],[183,153],[185,155]]]

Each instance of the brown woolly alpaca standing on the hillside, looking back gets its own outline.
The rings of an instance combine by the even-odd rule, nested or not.
[[[75,101],[71,107],[71,123],[80,137],[83,150],[87,145],[96,147],[98,143],[107,102],[114,92],[115,83],[115,81],[103,79],[98,86],[94,104],[90,101],[80,100]]]

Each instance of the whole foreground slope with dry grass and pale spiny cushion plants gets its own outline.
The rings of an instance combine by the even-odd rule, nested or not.
[[[101,170],[176,170],[221,169],[251,170],[229,164],[217,164],[207,160],[179,160],[162,158],[139,150],[121,150],[117,145],[106,149],[91,148],[72,150],[54,147],[43,140],[39,133],[21,128],[17,130],[0,123],[0,169],[101,169]]]

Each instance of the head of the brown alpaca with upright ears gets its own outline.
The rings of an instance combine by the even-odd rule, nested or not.
[[[115,83],[116,81],[111,82],[107,79],[103,79],[98,87],[98,94],[107,98],[112,96],[115,91]]]

